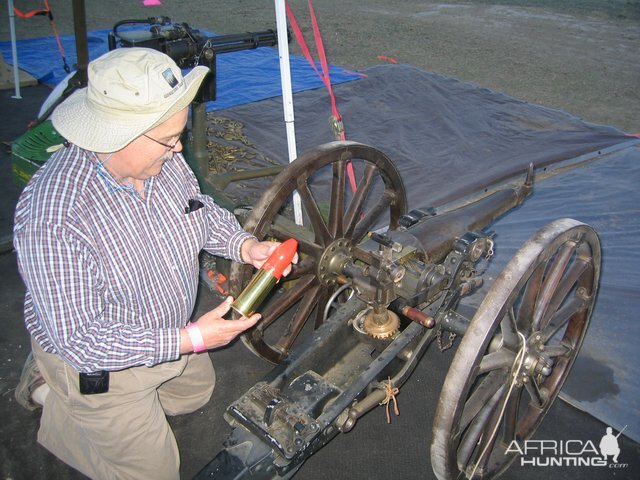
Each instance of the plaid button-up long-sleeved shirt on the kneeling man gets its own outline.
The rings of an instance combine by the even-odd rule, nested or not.
[[[94,153],[71,145],[34,175],[16,208],[27,330],[81,372],[177,359],[199,252],[242,261],[250,237],[200,192],[181,154],[147,180],[144,199],[118,186]],[[189,200],[204,207],[185,213]]]

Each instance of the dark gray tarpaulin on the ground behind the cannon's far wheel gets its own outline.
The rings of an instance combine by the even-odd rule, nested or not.
[[[366,73],[334,87],[346,137],[391,157],[410,208],[459,198],[522,173],[531,162],[540,167],[629,140],[614,128],[415,67],[379,66]],[[294,108],[299,154],[334,140],[326,90],[296,94]],[[243,124],[260,157],[247,167],[287,162],[280,98],[214,113]]]

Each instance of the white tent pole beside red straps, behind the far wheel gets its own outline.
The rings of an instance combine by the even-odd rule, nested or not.
[[[287,12],[285,0],[275,0],[276,26],[278,29],[278,53],[280,57],[280,79],[282,82],[282,106],[284,108],[284,122],[287,129],[287,146],[289,163],[298,157],[296,150],[296,130],[293,115],[293,93],[291,88],[291,68],[289,65],[289,34],[287,31]],[[302,225],[302,203],[298,192],[293,193],[293,213],[295,222]]]

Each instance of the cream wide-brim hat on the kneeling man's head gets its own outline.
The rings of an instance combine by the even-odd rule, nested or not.
[[[93,152],[115,152],[183,110],[209,69],[182,76],[168,56],[150,48],[119,48],[89,63],[86,88],[51,115],[69,142]]]

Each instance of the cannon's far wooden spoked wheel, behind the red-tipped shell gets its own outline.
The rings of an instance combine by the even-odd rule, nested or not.
[[[350,170],[357,182],[355,191]],[[303,226],[295,223],[294,192],[299,194]],[[373,147],[332,142],[292,162],[253,207],[244,228],[260,240],[296,238],[300,260],[259,309],[262,318],[243,335],[243,342],[273,363],[286,358],[310,317],[315,317],[314,328],[323,322],[324,307],[339,286],[331,273],[333,259],[348,256],[372,229],[397,228],[406,209],[395,165]],[[251,266],[232,265],[232,295],[237,297],[253,273]]]

